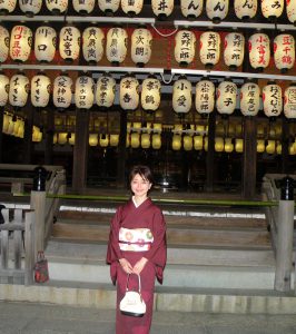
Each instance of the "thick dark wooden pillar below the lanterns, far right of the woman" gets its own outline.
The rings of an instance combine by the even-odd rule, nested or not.
[[[244,117],[243,197],[254,199],[257,174],[257,120]]]

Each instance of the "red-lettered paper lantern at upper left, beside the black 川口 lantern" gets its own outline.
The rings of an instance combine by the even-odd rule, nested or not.
[[[32,30],[26,26],[14,26],[10,36],[10,57],[16,61],[29,59],[32,47]]]

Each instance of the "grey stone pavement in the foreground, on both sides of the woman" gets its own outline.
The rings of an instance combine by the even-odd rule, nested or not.
[[[114,334],[115,312],[0,302],[0,334]],[[295,334],[295,315],[155,312],[150,334]]]

